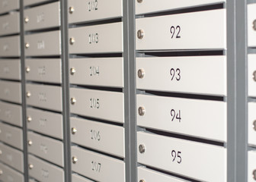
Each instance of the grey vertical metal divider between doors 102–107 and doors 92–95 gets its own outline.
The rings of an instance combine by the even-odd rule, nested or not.
[[[126,182],[136,175],[136,83],[134,0],[123,0],[123,73]]]

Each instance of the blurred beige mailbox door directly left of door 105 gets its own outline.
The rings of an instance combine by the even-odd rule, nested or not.
[[[62,111],[62,88],[39,84],[26,84],[27,105]]]

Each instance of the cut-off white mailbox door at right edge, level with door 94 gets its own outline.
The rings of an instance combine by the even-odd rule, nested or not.
[[[248,102],[248,143],[256,146],[256,102]]]

